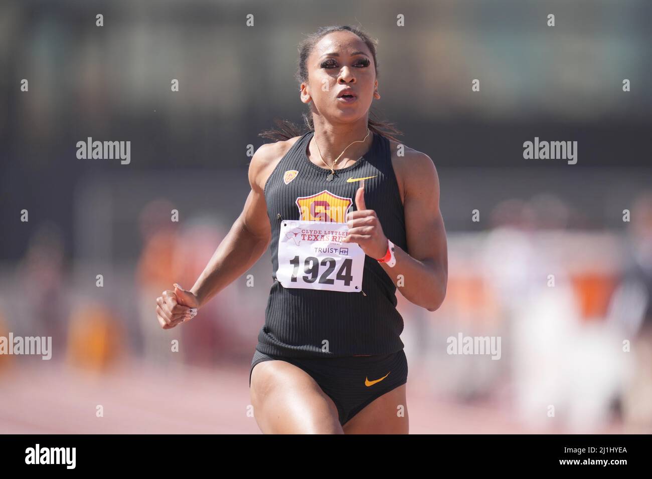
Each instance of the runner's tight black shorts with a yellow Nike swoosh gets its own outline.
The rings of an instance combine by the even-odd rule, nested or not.
[[[249,386],[254,366],[269,360],[286,361],[306,371],[333,399],[342,426],[374,399],[408,381],[408,359],[402,349],[389,355],[309,359],[266,355],[257,349],[249,370]]]

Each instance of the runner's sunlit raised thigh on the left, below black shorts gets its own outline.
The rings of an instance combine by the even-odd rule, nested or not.
[[[283,360],[251,371],[254,417],[264,434],[342,434],[333,399],[306,371]]]

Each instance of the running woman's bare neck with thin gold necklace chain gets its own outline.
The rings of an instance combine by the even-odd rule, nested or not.
[[[340,159],[337,160],[335,169],[346,167],[346,163],[355,162],[371,148],[374,134],[369,131],[369,136],[366,136],[368,128],[366,117],[353,124],[325,124],[318,118],[317,115],[313,116],[315,134],[310,143],[314,145],[317,142],[319,149],[308,147],[310,156],[315,158],[318,163],[321,163],[319,158],[321,151],[321,157],[329,166],[332,166],[339,156]],[[365,136],[366,139],[364,139]],[[353,143],[354,141],[357,143]]]

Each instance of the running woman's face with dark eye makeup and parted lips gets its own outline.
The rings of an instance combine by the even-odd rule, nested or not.
[[[301,83],[301,101],[330,121],[350,123],[364,117],[374,98],[376,65],[357,35],[338,31],[324,36],[308,57],[308,81]],[[351,97],[342,97],[348,89]]]

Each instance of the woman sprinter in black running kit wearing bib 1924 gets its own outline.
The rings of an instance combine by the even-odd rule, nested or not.
[[[173,328],[270,246],[273,280],[250,370],[263,433],[408,433],[408,363],[396,289],[435,311],[446,294],[446,233],[430,157],[368,118],[376,42],[323,27],[299,47],[308,131],[261,134],[244,209],[192,289],[157,298]],[[396,132],[396,130],[392,130]]]

